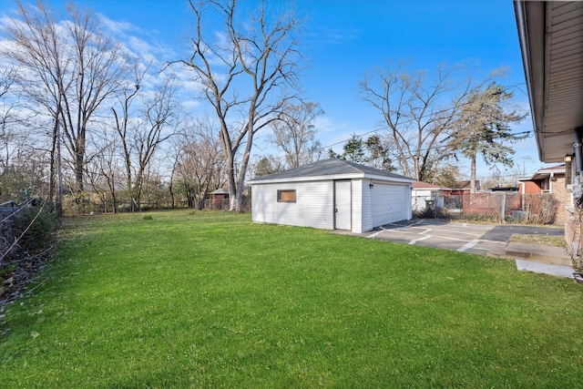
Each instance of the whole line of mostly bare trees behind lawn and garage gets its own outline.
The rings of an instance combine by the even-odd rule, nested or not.
[[[513,92],[496,75],[476,82],[457,67],[430,75],[398,64],[359,85],[382,128],[334,153],[317,139],[322,107],[302,97],[302,21],[292,8],[189,0],[189,9],[188,55],[160,61],[108,34],[90,9],[15,2],[0,33],[2,200],[36,190],[58,211],[63,193],[77,203],[91,193],[113,210],[120,197],[139,209],[164,184],[172,204],[196,207],[226,186],[230,210],[240,210],[250,168],[261,175],[331,156],[435,181],[452,176],[460,156],[475,178],[477,155],[512,164],[508,142],[524,137],[510,128],[524,113],[506,108]],[[190,99],[210,113],[189,111]],[[253,164],[259,131],[270,131],[281,158]]]

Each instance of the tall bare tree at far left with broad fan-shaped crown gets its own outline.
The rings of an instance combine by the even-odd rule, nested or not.
[[[99,29],[90,11],[66,5],[69,20],[57,23],[42,1],[18,4],[20,20],[8,27],[8,57],[23,73],[26,96],[45,107],[55,121],[53,144],[60,124],[75,171],[77,191],[83,190],[87,129],[97,108],[117,90],[125,77],[120,46]]]

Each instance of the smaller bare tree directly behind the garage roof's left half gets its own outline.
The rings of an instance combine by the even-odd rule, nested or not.
[[[318,159],[322,147],[315,139],[313,122],[323,113],[318,103],[286,104],[278,119],[271,122],[271,142],[285,153],[290,168],[298,168]]]

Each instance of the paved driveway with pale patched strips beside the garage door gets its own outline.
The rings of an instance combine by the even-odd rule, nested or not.
[[[398,241],[406,244],[465,251],[480,255],[504,255],[512,234],[562,236],[564,231],[552,227],[467,224],[439,220],[410,220],[366,232],[367,238]]]

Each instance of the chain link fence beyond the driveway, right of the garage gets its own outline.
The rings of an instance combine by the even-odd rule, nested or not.
[[[414,215],[425,219],[512,221],[552,224],[557,203],[549,193],[522,195],[484,192],[465,195],[419,196],[413,198]]]

